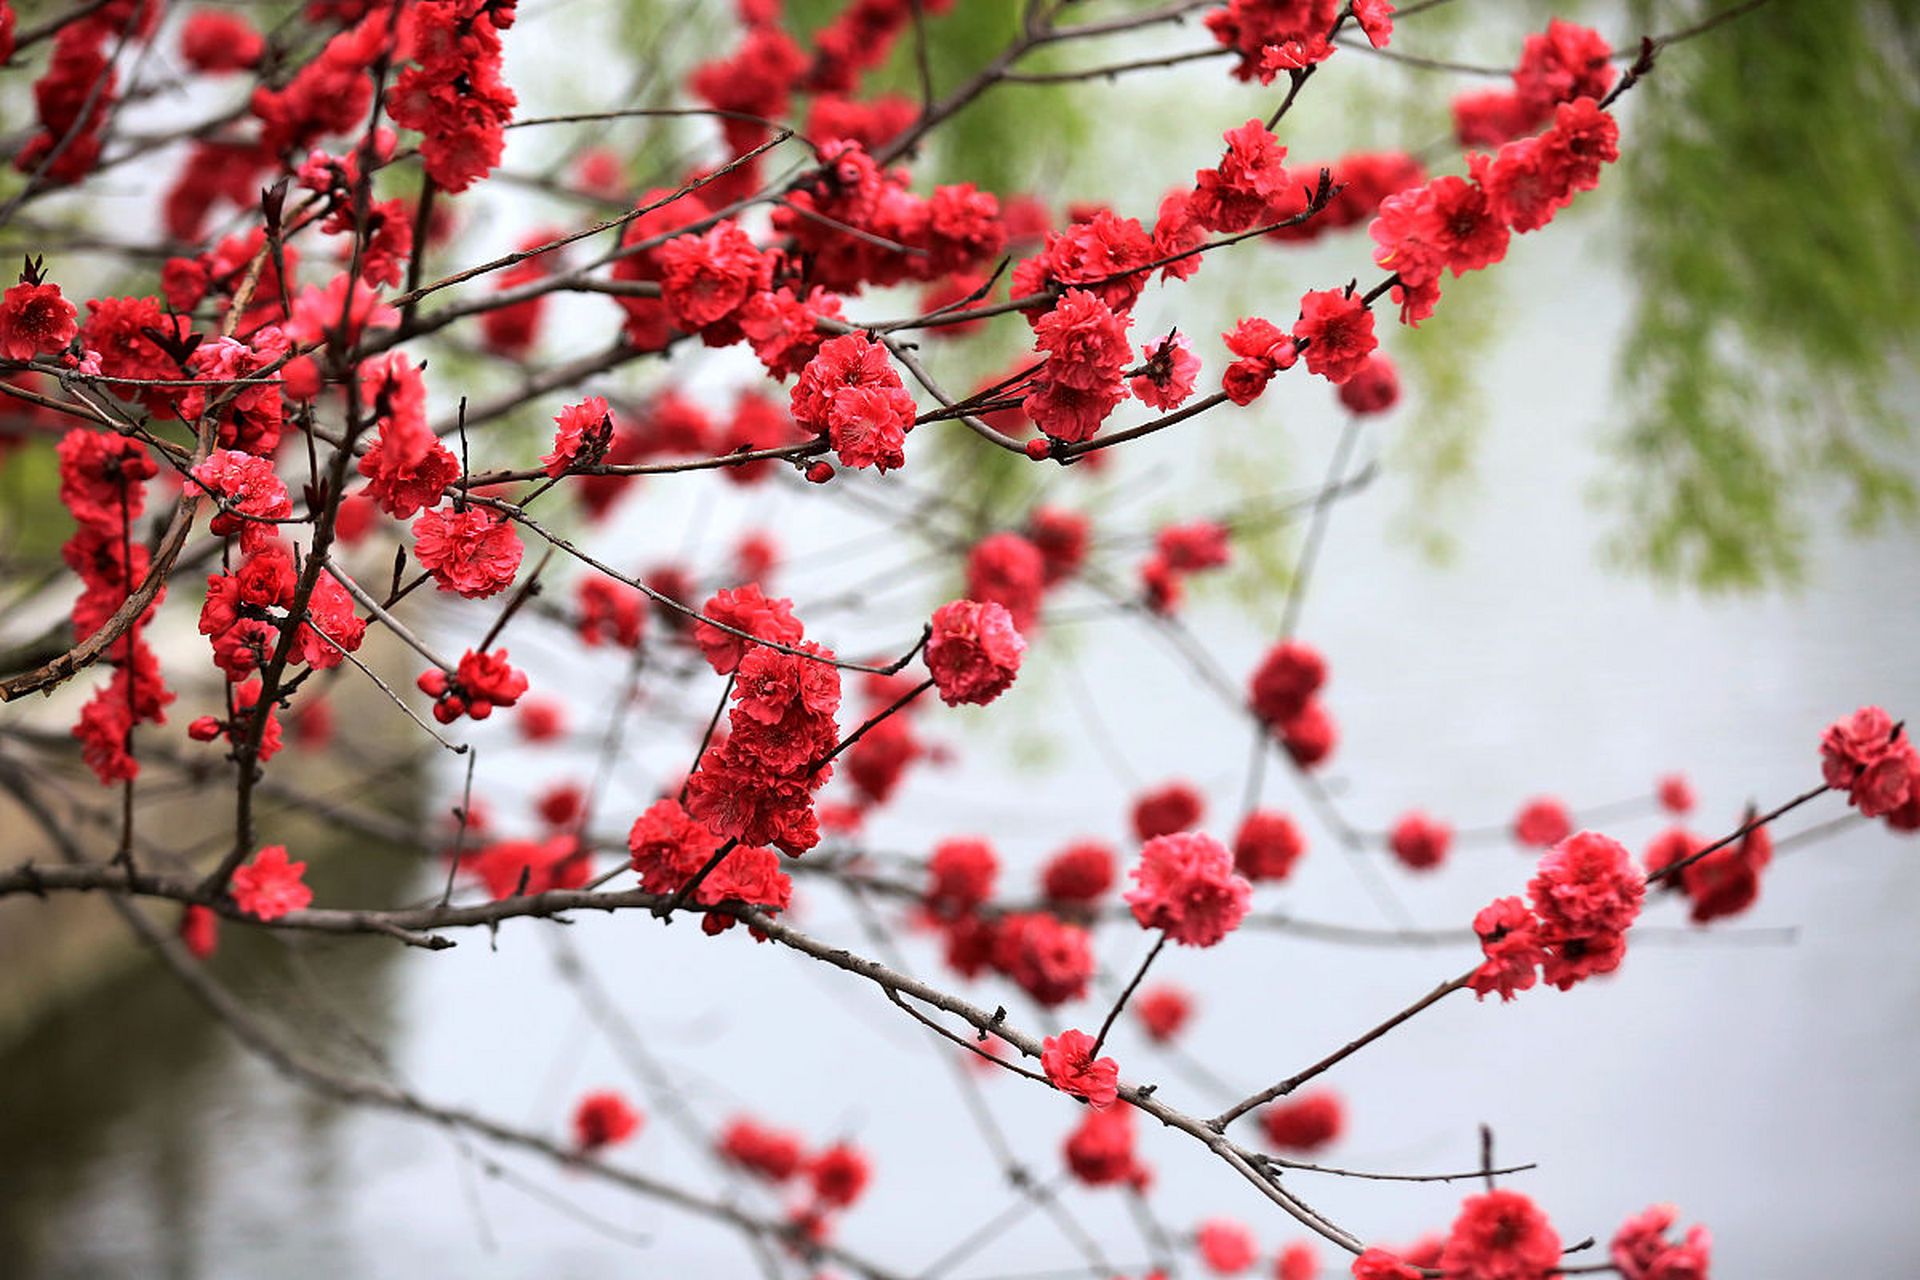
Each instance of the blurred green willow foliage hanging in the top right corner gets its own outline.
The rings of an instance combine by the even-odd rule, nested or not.
[[[1905,0],[1774,0],[1634,90],[1617,557],[1759,587],[1797,578],[1820,509],[1912,518],[1914,25]]]

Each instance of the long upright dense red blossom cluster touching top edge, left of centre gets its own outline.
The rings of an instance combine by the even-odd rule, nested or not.
[[[401,19],[401,50],[417,65],[386,90],[386,111],[420,130],[420,163],[444,192],[465,192],[507,148],[518,104],[499,79],[499,33],[509,27],[513,0],[419,0]]]

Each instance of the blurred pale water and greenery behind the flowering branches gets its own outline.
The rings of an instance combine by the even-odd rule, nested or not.
[[[831,8],[789,12],[804,31]],[[1089,4],[1087,15],[1125,8]],[[728,46],[724,10],[532,0],[507,35],[509,83],[524,111],[605,107],[636,69],[647,73],[636,92],[672,98],[685,67]],[[1549,13],[1628,44],[1709,12],[1455,0],[1404,21],[1390,52],[1501,69]],[[1008,4],[977,0],[935,19],[937,83],[991,58],[1010,17]],[[1206,44],[1204,29],[1187,23],[1041,65]],[[169,48],[161,36],[156,59]],[[582,50],[607,58],[605,75],[580,75]],[[1878,702],[1901,716],[1920,704],[1914,69],[1908,4],[1776,0],[1674,46],[1624,100],[1622,163],[1599,192],[1551,228],[1517,238],[1498,269],[1450,282],[1421,330],[1382,322],[1405,395],[1361,428],[1359,455],[1379,472],[1334,507],[1300,628],[1332,668],[1329,704],[1342,739],[1325,777],[1361,827],[1384,829],[1413,806],[1459,827],[1500,827],[1524,798],[1557,794],[1576,812],[1630,814],[1605,829],[1640,850],[1665,819],[1651,804],[1619,802],[1680,770],[1701,796],[1690,827],[1713,837],[1734,829],[1749,802],[1803,791],[1818,733],[1837,714]],[[910,88],[910,65],[887,75]],[[19,67],[4,73],[10,115],[25,79]],[[1446,148],[1448,102],[1488,83],[1498,81],[1342,54],[1309,84],[1283,142],[1298,163],[1404,148],[1446,167],[1457,161]],[[1217,159],[1221,130],[1265,115],[1273,96],[1231,81],[1213,59],[1112,83],[1006,86],[958,117],[916,177],[922,190],[977,180],[1033,192],[1054,211],[1112,201],[1146,219],[1167,186]],[[202,107],[167,102],[167,111]],[[712,144],[699,125],[593,132],[628,161],[636,190]],[[516,132],[505,167],[561,171],[578,142]],[[108,196],[35,207],[35,234],[71,244],[46,249],[69,294],[83,292],[88,273],[98,273],[84,286],[92,292],[152,290],[152,263],[129,269],[123,257],[88,255],[83,242],[104,228],[142,234],[148,223],[129,209],[148,200],[146,182],[169,175],[159,159],[150,173],[117,171]],[[532,184],[488,188],[499,190],[457,205],[461,234],[442,249],[449,269],[513,248],[532,226],[582,217],[580,201]],[[4,246],[17,251],[23,238],[35,248],[10,226]],[[1302,290],[1371,274],[1363,230],[1311,246],[1244,246],[1210,257],[1181,292],[1150,292],[1135,334],[1177,324],[1208,359],[1204,378],[1215,378],[1213,334],[1238,315],[1290,315]],[[883,294],[852,311],[904,315],[918,309],[912,301]],[[580,334],[597,347],[616,322],[605,297],[561,299],[541,355],[568,353]],[[950,386],[972,386],[998,372],[1020,340],[1010,320],[954,344],[929,340],[925,357]],[[457,342],[420,345],[428,382],[447,399],[518,376]],[[693,353],[672,370],[622,374],[622,388],[643,393],[672,380],[722,407],[758,376],[737,357]],[[534,455],[545,415],[536,407],[522,418],[476,441],[476,468]],[[1254,409],[1110,451],[1096,474],[1008,462],[962,432],[927,428],[910,439],[904,472],[837,484],[831,501],[783,478],[758,489],[712,474],[659,478],[589,537],[626,568],[708,566],[743,533],[768,530],[785,560],[774,585],[795,599],[810,633],[841,652],[897,652],[958,589],[950,558],[904,539],[891,514],[920,495],[952,499],[975,532],[1018,524],[1035,501],[1083,509],[1106,539],[1098,562],[1129,578],[1146,533],[1164,522],[1256,510],[1311,489],[1344,422],[1325,384],[1283,378]],[[0,466],[0,555],[13,583],[27,583],[29,566],[65,537],[46,497],[50,476],[44,447]],[[1235,564],[1196,581],[1183,612],[1235,679],[1275,633],[1300,528],[1279,516],[1250,522]],[[367,551],[371,564],[390,555],[390,541]],[[13,606],[31,616],[21,601]],[[490,614],[434,603],[419,616],[434,643],[457,649]],[[180,666],[204,664],[190,614],[180,622]],[[626,654],[582,656],[564,624],[541,616],[516,622],[509,645],[534,689],[568,704],[572,731],[530,748],[503,720],[470,725],[476,796],[499,829],[532,833],[536,796],[593,771],[609,725],[626,718],[599,823],[622,833],[662,779],[685,770],[720,681],[662,689],[630,708],[620,699]],[[177,725],[198,714],[196,699],[211,702],[211,685],[182,695]],[[0,725],[25,716],[60,727],[61,714],[71,706],[58,700],[52,710],[6,708]],[[1131,850],[1127,812],[1150,785],[1196,783],[1210,800],[1204,825],[1219,835],[1236,821],[1246,785],[1244,720],[1196,679],[1190,658],[1139,618],[1071,591],[1050,601],[1041,643],[993,712],[935,710],[922,723],[950,758],[912,773],[862,844],[920,858],[941,837],[981,835],[1000,850],[1012,890],[1073,839]],[[422,756],[397,714],[353,716],[340,741],[336,756],[349,766],[411,766],[386,770],[403,819],[438,823],[457,802],[457,762]],[[1459,929],[1490,896],[1517,892],[1530,869],[1500,841],[1457,850],[1434,875],[1352,854],[1281,770],[1265,777],[1265,802],[1306,823],[1309,852],[1290,881],[1260,890],[1263,910],[1367,929]],[[1836,800],[1809,806],[1780,835],[1839,812]],[[409,900],[444,873],[359,837],[326,848],[324,829],[301,835],[296,856],[313,860],[323,904]],[[0,831],[4,862],[25,848],[23,831]],[[1440,1006],[1329,1077],[1352,1119],[1329,1159],[1413,1173],[1473,1167],[1484,1123],[1501,1159],[1540,1161],[1513,1186],[1567,1240],[1605,1238],[1628,1213],[1667,1199],[1682,1221],[1713,1228],[1722,1276],[1908,1274],[1920,1251],[1910,1211],[1920,1090],[1905,1067],[1920,1054],[1916,852],[1912,839],[1880,825],[1839,827],[1784,854],[1761,902],[1736,921],[1695,931],[1674,904],[1651,910],[1613,981],[1536,990],[1503,1007]],[[795,919],[862,946],[866,917],[831,885],[801,879]],[[280,1082],[146,961],[77,965],[52,990],[33,977],[38,952],[4,950],[8,933],[27,929],[19,913],[0,917],[0,954],[17,975],[4,986],[19,996],[0,1025],[0,1274],[753,1267],[720,1228],[549,1165],[490,1155],[509,1171],[495,1176],[440,1130],[338,1109]],[[1114,983],[1144,952],[1131,925],[1098,935]],[[1123,1075],[1158,1080],[1175,1105],[1217,1109],[1313,1061],[1473,954],[1457,940],[1334,944],[1283,933],[1169,952],[1156,977],[1200,994],[1183,1055],[1156,1054],[1129,1021],[1114,1054]],[[948,981],[925,938],[902,938],[902,963]],[[589,1088],[643,1098],[624,1052],[637,1036],[705,1125],[755,1113],[812,1142],[860,1142],[876,1182],[841,1234],[904,1274],[1018,1201],[933,1061],[950,1048],[849,975],[755,946],[741,931],[707,938],[691,925],[626,917],[520,923],[420,956],[228,927],[213,965],[330,1061],[555,1136]],[[588,992],[603,1000],[582,1000]],[[996,979],[972,994],[1052,1031],[1096,1023],[1112,986],[1052,1015],[1014,1004],[1018,992]],[[1054,1178],[1077,1111],[1012,1079],[981,1077],[981,1086],[1020,1159]],[[1290,1219],[1192,1142],[1142,1128],[1140,1153],[1171,1228],[1225,1215],[1250,1222],[1269,1249],[1298,1238]],[[659,1115],[612,1159],[718,1186]],[[1461,1196],[1338,1178],[1296,1188],[1334,1221],[1384,1240],[1444,1228]],[[1144,1270],[1148,1247],[1114,1192],[1064,1194],[1116,1272]],[[1338,1270],[1331,1249],[1323,1259]],[[1083,1274],[1085,1259],[1046,1215],[1029,1213],[950,1274],[1056,1270]]]

